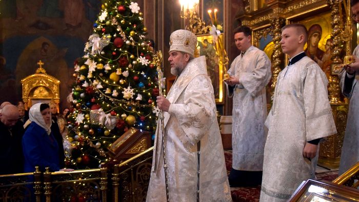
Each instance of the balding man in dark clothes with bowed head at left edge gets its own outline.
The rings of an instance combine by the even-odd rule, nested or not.
[[[6,105],[0,114],[0,174],[21,173],[24,169],[22,149],[23,124],[19,121],[18,109]]]

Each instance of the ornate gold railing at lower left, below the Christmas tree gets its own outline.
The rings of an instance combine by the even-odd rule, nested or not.
[[[145,201],[153,147],[113,168],[0,175],[0,201]]]

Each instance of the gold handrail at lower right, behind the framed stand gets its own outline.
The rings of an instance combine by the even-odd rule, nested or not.
[[[359,188],[359,162],[353,167],[333,180],[334,184],[344,185],[352,188]]]

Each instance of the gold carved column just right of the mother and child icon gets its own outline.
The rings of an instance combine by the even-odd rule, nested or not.
[[[338,68],[343,60],[341,59],[341,52],[343,46],[343,40],[341,33],[343,32],[343,26],[341,24],[344,21],[343,16],[340,16],[341,2],[339,0],[328,0],[327,4],[331,8],[331,27],[332,27],[332,67],[331,69]],[[333,73],[333,71],[332,71]],[[340,79],[338,75],[331,74],[329,77],[328,94],[330,105],[333,110],[333,116],[337,134],[331,135],[326,138],[326,141],[321,143],[318,165],[337,169],[340,163],[340,157],[342,153],[343,139],[345,128],[347,124],[348,103],[341,99],[341,88],[339,86]]]

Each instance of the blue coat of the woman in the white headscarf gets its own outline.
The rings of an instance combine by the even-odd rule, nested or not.
[[[39,166],[42,172],[50,167],[50,172],[58,171],[58,145],[52,135],[48,135],[42,127],[32,122],[23,136],[23,151],[25,157],[24,171],[34,172]]]

